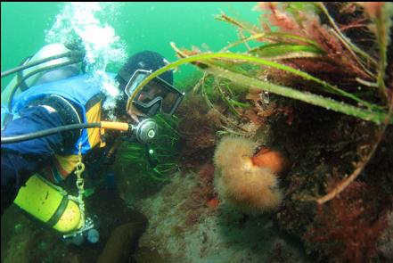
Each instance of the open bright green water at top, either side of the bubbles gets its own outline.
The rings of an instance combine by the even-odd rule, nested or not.
[[[255,3],[116,3],[113,12],[102,11],[97,19],[115,30],[126,44],[128,55],[152,50],[169,61],[176,59],[169,45],[206,45],[212,51],[238,39],[233,27],[216,21],[214,16],[225,12],[242,21],[258,22]],[[1,70],[19,65],[26,57],[45,45],[45,32],[51,29],[63,3],[1,3]],[[117,70],[119,65],[109,65]],[[190,68],[182,68],[176,79],[189,76]],[[2,79],[2,89],[10,78]]]

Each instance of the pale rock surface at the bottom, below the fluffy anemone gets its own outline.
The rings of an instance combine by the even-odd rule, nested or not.
[[[138,262],[306,262],[269,216],[249,218],[223,203],[200,201],[195,195],[205,193],[203,187],[209,185],[201,185],[198,174],[177,174],[137,203],[149,219],[135,251]],[[146,250],[160,257],[143,261]]]

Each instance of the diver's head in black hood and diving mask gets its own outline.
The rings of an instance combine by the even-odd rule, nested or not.
[[[127,112],[136,121],[157,113],[173,114],[183,94],[173,86],[172,70],[153,78],[142,89],[136,89],[151,72],[166,64],[167,60],[160,53],[151,51],[143,51],[130,57],[117,76],[122,92],[119,110]]]

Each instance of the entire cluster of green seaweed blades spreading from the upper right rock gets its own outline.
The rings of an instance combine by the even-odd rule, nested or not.
[[[314,39],[303,37],[301,35],[294,35],[291,34],[291,32],[263,32],[262,29],[259,29],[256,26],[241,21],[235,21],[225,14],[221,14],[219,17],[217,17],[217,20],[231,23],[238,29],[247,31],[251,34],[251,36],[243,37],[241,40],[226,46],[222,49],[222,51],[225,52],[220,53],[182,52],[176,48],[175,44],[172,43],[172,47],[175,49],[176,53],[179,55],[179,57],[181,57],[181,59],[153,72],[149,78],[143,80],[143,83],[137,87],[137,90],[141,89],[152,78],[157,77],[166,70],[174,69],[183,64],[192,63],[201,70],[209,73],[208,76],[231,80],[235,85],[242,86],[244,89],[257,87],[261,90],[276,95],[282,95],[291,99],[310,103],[323,107],[327,110],[338,111],[359,119],[373,121],[376,124],[381,124],[383,122],[393,123],[393,118],[389,114],[389,107],[387,103],[388,98],[383,80],[387,63],[386,46],[388,43],[387,34],[389,32],[389,23],[386,22],[388,17],[388,14],[386,14],[387,12],[383,12],[383,16],[376,17],[374,19],[377,28],[376,35],[380,45],[380,59],[379,62],[375,62],[373,58],[367,55],[355,44],[351,43],[348,37],[345,37],[340,32],[340,29],[338,29],[336,23],[332,20],[332,17],[322,3],[287,3],[287,8],[288,12],[291,12],[296,19],[292,22],[296,22],[300,26],[303,26],[303,24],[307,23],[305,16],[300,15],[302,12],[305,12],[306,9],[307,12],[321,11],[322,14],[327,16],[328,21],[331,23],[333,28],[332,36],[337,37],[340,43],[348,50],[350,55],[353,56],[353,59],[360,67],[358,69],[363,70],[364,74],[368,74],[370,78],[374,78],[375,74],[373,72],[377,72],[376,75],[378,77],[375,78],[375,84],[361,78],[353,78],[353,80],[356,80],[357,83],[360,84],[370,83],[369,86],[378,87],[380,98],[382,102],[384,102],[383,105],[373,103],[373,93],[368,93],[369,95],[366,97],[366,99],[360,98],[357,91],[349,92],[340,86],[332,85],[328,81],[317,78],[306,71],[298,70],[291,66],[285,65],[284,63],[276,62],[294,58],[319,58],[322,61],[323,59],[326,59],[326,61],[332,62],[332,57],[325,55],[327,51],[324,50]],[[246,44],[247,42],[253,40],[261,41],[261,39],[273,41],[273,44],[262,43],[261,45],[252,49],[249,48],[246,53],[228,52],[228,50],[235,45]],[[357,55],[360,55],[362,58],[360,59]],[[366,67],[366,64],[368,67]],[[284,72],[291,73],[294,77],[303,79],[303,85],[306,85],[309,88],[314,88],[313,93],[299,90],[299,87],[297,86],[282,86],[271,81],[261,80],[260,78],[257,78],[257,76],[253,76],[250,73],[252,70],[243,70],[250,65],[259,66],[262,67],[262,69],[282,70]],[[205,76],[203,78],[207,77]],[[316,84],[316,86],[309,85],[307,82],[313,82]],[[234,115],[239,115],[236,111],[236,107],[241,105],[246,106],[235,98],[231,88],[228,86],[222,86],[220,84],[213,85],[213,88],[210,88],[209,90],[207,90],[206,87],[203,87],[203,85],[201,86],[204,89],[202,90],[202,95],[205,97],[205,100],[209,104],[210,108],[214,108],[214,103],[211,102],[209,97],[212,97],[215,93],[221,97],[229,111]],[[366,93],[364,93],[364,95],[365,94]]]

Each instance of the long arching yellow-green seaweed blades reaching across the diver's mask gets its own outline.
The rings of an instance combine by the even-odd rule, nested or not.
[[[232,60],[246,61],[252,63],[259,63],[264,66],[274,67],[279,70],[286,70],[291,73],[294,73],[295,75],[298,75],[299,77],[303,77],[307,80],[315,81],[317,84],[320,84],[322,86],[321,88],[323,89],[328,88],[329,90],[340,93],[340,95],[346,95],[354,99],[356,102],[362,103],[363,105],[367,106],[367,108],[369,109],[364,109],[361,107],[350,105],[348,103],[339,102],[332,98],[324,97],[322,95],[314,95],[308,92],[299,91],[288,86],[280,86],[270,83],[268,81],[259,80],[257,78],[250,78],[226,69],[220,69],[214,66],[214,62],[213,62],[214,59],[232,59]],[[338,111],[360,119],[373,121],[376,124],[381,124],[388,118],[389,118],[389,123],[393,123],[393,118],[389,116],[389,112],[381,110],[380,106],[375,105],[373,103],[367,103],[361,100],[360,98],[357,98],[355,95],[348,94],[347,92],[341,90],[340,88],[337,88],[335,86],[326,83],[322,79],[315,78],[305,72],[293,69],[291,67],[282,65],[280,63],[269,62],[255,56],[250,56],[248,54],[241,54],[241,53],[202,53],[202,54],[185,57],[176,62],[169,63],[168,65],[161,68],[160,70],[154,71],[148,78],[145,78],[143,82],[140,84],[140,86],[138,86],[136,89],[140,90],[152,78],[159,76],[160,74],[162,74],[167,70],[174,69],[186,63],[194,63],[202,70],[207,70],[210,73],[217,74],[219,75],[220,78],[230,79],[232,81],[235,81],[237,84],[241,84],[242,86],[258,87],[264,91],[268,91],[276,95],[286,96],[292,99],[303,101],[305,103],[310,103],[316,106],[323,107],[327,110]]]

